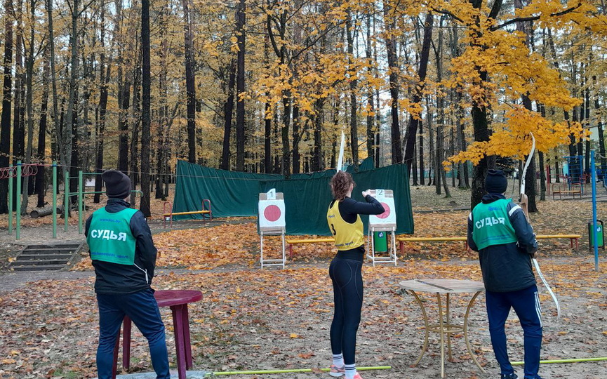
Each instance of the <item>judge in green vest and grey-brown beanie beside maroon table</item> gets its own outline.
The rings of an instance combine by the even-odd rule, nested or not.
[[[131,180],[105,171],[107,205],[86,220],[86,242],[95,267],[99,307],[99,379],[112,378],[114,345],[125,316],[147,338],[157,379],[169,379],[164,324],[151,287],[156,265],[152,232],[141,211],[131,208]]]

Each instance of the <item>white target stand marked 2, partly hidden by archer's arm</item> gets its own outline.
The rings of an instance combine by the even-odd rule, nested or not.
[[[371,196],[375,197],[384,207],[384,213],[369,215],[367,258],[375,263],[394,263],[396,266],[396,207],[394,206],[394,192],[392,189],[371,189]],[[375,251],[375,232],[389,232],[390,244],[386,253],[377,255]],[[387,255],[386,255],[387,254]]]

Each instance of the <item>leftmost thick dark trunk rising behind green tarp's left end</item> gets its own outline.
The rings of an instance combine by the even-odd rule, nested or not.
[[[185,41],[185,87],[187,93],[187,161],[196,163],[196,77],[194,67],[194,36],[189,13],[189,0],[182,0]]]

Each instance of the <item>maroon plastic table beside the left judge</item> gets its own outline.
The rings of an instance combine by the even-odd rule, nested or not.
[[[164,290],[154,292],[154,298],[159,307],[171,307],[173,313],[173,328],[175,329],[175,350],[177,350],[177,372],[179,379],[185,379],[185,371],[192,368],[192,345],[189,340],[189,316],[187,305],[202,299],[200,291],[193,290]],[[131,366],[131,319],[124,317],[122,321],[124,331],[122,334],[122,367]],[[120,331],[114,347],[114,371],[118,364],[118,348],[120,345]]]

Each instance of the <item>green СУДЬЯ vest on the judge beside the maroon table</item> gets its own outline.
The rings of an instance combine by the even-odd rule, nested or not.
[[[135,237],[131,232],[131,218],[136,212],[137,209],[125,208],[109,213],[104,207],[93,213],[86,237],[92,260],[119,265],[135,264]]]

